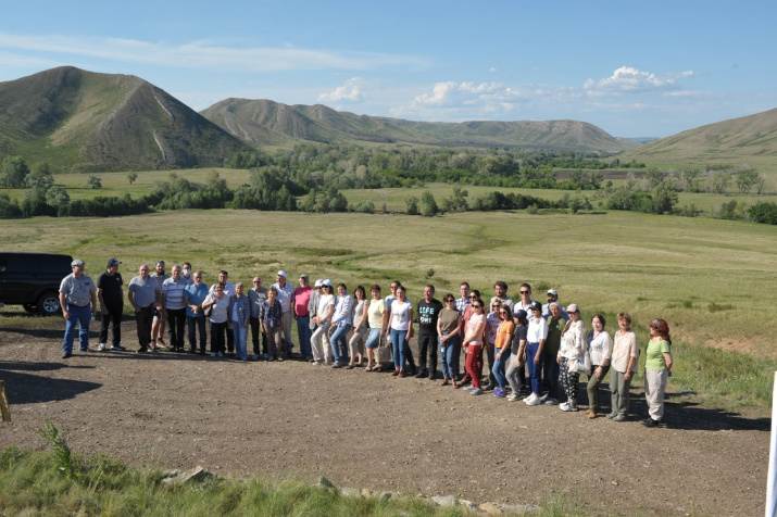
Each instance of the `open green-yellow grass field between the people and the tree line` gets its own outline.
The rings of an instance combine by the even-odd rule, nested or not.
[[[281,268],[292,280],[308,273],[351,289],[374,282],[386,288],[399,279],[411,299],[421,298],[426,282],[441,297],[456,293],[463,280],[489,295],[493,282],[504,280],[517,299],[518,283],[526,281],[540,300],[544,290],[557,289],[561,302],[580,304],[586,319],[603,313],[611,330],[614,315],[629,312],[642,343],[648,321],[663,317],[675,340],[700,351],[714,345],[743,352],[742,361],[766,357],[763,365],[740,365],[757,371],[777,358],[772,342],[777,302],[770,295],[777,290],[776,237],[777,229],[766,225],[616,212],[469,212],[427,218],[180,211],[109,219],[5,220],[0,229],[4,249],[70,253],[84,258],[95,278],[108,257],[117,256],[127,281],[141,263],[156,258],[171,265],[189,261],[208,282],[222,268],[230,280],[243,282],[255,274],[273,279]],[[701,355],[689,361],[694,357]],[[709,391],[728,391],[732,380],[725,379],[727,362],[741,361],[705,361],[711,357],[722,364],[685,365],[692,391],[709,381],[693,380],[706,379],[707,367],[724,376]],[[751,380],[763,388],[769,378],[759,374]],[[768,399],[768,392],[748,395],[749,390],[736,398],[761,403]]]

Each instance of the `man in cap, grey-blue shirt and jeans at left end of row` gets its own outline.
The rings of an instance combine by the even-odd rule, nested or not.
[[[62,340],[62,358],[73,355],[73,340],[76,325],[78,330],[78,350],[89,352],[89,320],[97,312],[97,287],[88,275],[84,275],[84,261],[76,258],[71,263],[73,273],[60,283],[60,305],[65,318],[65,338]]]

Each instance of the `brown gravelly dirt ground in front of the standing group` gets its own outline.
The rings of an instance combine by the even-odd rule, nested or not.
[[[115,352],[63,362],[54,328],[0,321],[0,379],[13,417],[0,426],[0,446],[43,447],[36,429],[48,417],[67,427],[75,451],[110,451],[135,465],[325,475],[339,487],[476,502],[541,503],[561,493],[591,514],[764,512],[766,412],[671,402],[667,427],[646,429],[636,419],[589,420],[426,379],[303,362]],[[640,416],[641,395],[632,390]]]

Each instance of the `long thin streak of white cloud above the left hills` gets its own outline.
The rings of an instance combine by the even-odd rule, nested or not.
[[[229,47],[199,40],[183,45],[120,38],[24,36],[0,33],[0,49],[101,58],[131,63],[205,71],[274,72],[285,70],[372,70],[423,65],[413,56],[336,52],[284,47]]]

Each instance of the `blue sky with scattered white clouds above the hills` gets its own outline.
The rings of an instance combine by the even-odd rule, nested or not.
[[[777,1],[0,0],[0,81],[72,65],[227,98],[665,137],[777,108]]]

